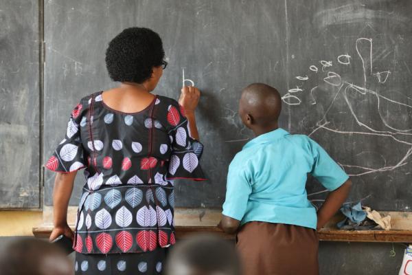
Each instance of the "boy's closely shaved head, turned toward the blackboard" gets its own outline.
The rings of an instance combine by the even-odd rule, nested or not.
[[[255,133],[276,129],[281,110],[282,98],[277,89],[263,83],[253,83],[243,89],[239,115]]]

